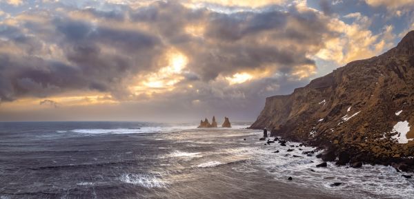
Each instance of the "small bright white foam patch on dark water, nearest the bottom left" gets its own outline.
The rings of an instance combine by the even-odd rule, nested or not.
[[[123,174],[119,180],[140,187],[166,187],[166,182],[157,176],[148,174]]]

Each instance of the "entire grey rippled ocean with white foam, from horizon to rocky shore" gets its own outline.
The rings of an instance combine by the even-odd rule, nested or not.
[[[414,197],[392,167],[315,167],[314,148],[264,145],[248,125],[0,123],[0,198]]]

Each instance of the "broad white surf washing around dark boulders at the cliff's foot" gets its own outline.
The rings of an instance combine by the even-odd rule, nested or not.
[[[299,143],[289,142],[286,145],[299,145]],[[294,151],[288,152],[287,149],[294,149]],[[255,153],[259,166],[264,167],[274,178],[286,180],[291,176],[293,177],[291,183],[301,187],[312,187],[350,198],[412,198],[414,196],[412,180],[402,177],[401,173],[397,173],[393,167],[363,165],[362,168],[354,169],[337,167],[335,163],[328,163],[326,168],[316,167],[317,164],[322,163],[322,160],[302,154],[302,151],[314,149],[313,147],[282,147],[275,143],[275,145],[257,147]],[[276,150],[279,150],[279,153],[273,153]],[[285,156],[286,154],[289,155]],[[293,155],[300,157],[294,158]],[[331,187],[333,182],[344,184]],[[355,197],[347,195],[349,190],[353,190]]]

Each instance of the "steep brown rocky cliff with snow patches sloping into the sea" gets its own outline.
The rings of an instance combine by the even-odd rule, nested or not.
[[[414,168],[414,31],[380,56],[352,61],[292,94],[266,98],[251,125],[325,147],[337,165]]]

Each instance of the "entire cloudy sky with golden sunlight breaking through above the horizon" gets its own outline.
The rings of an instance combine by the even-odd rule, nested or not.
[[[412,0],[0,0],[0,121],[254,121],[413,29]]]

